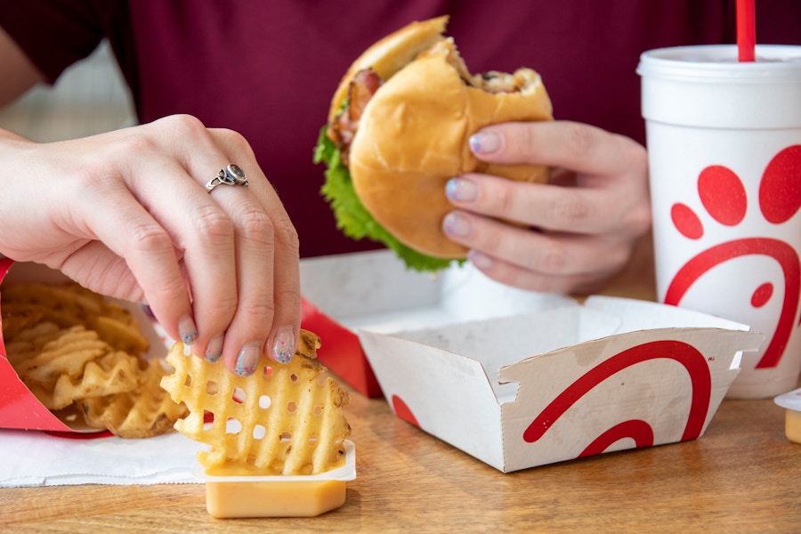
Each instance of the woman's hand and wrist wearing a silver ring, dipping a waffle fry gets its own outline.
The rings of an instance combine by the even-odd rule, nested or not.
[[[298,243],[246,140],[174,116],[69,142],[0,131],[0,253],[142,301],[192,352],[247,376],[291,358]],[[249,185],[205,189],[236,164]]]

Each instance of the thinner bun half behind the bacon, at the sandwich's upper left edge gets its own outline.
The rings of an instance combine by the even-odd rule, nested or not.
[[[373,69],[381,79],[387,80],[412,61],[418,53],[428,49],[440,40],[448,25],[447,15],[436,19],[415,21],[385,36],[362,53],[345,73],[336,88],[331,108],[328,110],[330,122],[348,95],[348,84],[361,69]]]

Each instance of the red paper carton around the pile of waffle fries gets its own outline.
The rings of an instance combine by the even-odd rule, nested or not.
[[[61,283],[67,278],[38,263],[14,263],[0,258],[0,309],[3,306],[3,287],[14,282]],[[142,334],[150,342],[146,358],[163,357],[166,354],[165,340],[158,335],[152,320],[134,303],[115,301],[134,315]],[[67,433],[96,433],[96,429],[84,425],[77,412],[65,409],[53,413],[44,408],[36,396],[22,383],[6,357],[5,344],[0,333],[0,428],[44,430]]]

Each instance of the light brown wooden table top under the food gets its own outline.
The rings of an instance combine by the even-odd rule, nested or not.
[[[217,520],[201,485],[0,489],[3,532],[799,532],[801,445],[773,401],[700,440],[500,473],[352,394],[358,478],[305,519]]]

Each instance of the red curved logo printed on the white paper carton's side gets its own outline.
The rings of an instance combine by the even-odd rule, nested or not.
[[[690,376],[692,399],[687,424],[684,426],[681,441],[694,440],[700,436],[707,418],[709,401],[712,394],[712,376],[704,355],[691,344],[676,340],[659,340],[639,344],[623,352],[619,352],[590,369],[578,380],[570,384],[556,396],[523,432],[523,440],[533,443],[542,438],[548,429],[562,417],[579,399],[591,392],[604,380],[614,376],[625,368],[648,360],[668,359],[681,364]],[[613,443],[624,438],[635,441],[636,447],[653,445],[654,437],[651,425],[642,419],[630,419],[614,425],[598,436],[578,457],[601,454]]]

